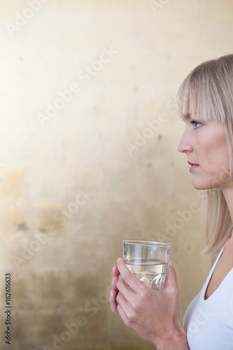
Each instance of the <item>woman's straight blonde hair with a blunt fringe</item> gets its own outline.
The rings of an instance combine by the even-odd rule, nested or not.
[[[230,177],[233,179],[233,55],[199,64],[188,74],[178,90],[178,114],[191,113],[202,120],[218,120],[225,126]],[[221,176],[229,174],[223,172]],[[219,181],[218,181],[219,182]],[[204,191],[201,228],[205,248],[202,255],[218,255],[232,235],[232,218],[220,188]]]

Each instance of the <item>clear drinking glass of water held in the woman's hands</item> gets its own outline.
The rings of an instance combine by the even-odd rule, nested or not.
[[[124,240],[126,265],[145,286],[162,290],[167,276],[171,244],[160,241]]]

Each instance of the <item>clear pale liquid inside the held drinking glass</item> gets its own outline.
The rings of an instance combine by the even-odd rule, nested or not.
[[[140,281],[156,290],[162,290],[167,275],[167,262],[160,260],[130,260],[126,262],[129,271]]]

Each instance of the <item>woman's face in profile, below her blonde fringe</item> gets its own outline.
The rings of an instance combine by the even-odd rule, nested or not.
[[[185,132],[178,151],[188,157],[192,186],[197,190],[230,186],[230,166],[227,139],[223,123],[183,117]]]

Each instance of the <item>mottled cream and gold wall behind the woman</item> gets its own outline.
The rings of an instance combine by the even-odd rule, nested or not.
[[[111,314],[111,267],[122,239],[171,242],[181,321],[206,279],[174,96],[232,52],[232,1],[0,7],[1,350],[154,349]]]

